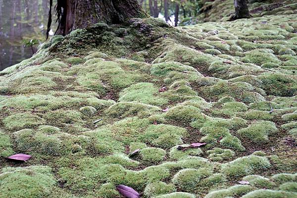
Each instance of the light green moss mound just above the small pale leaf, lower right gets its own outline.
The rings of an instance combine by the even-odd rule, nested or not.
[[[230,178],[235,178],[264,171],[269,167],[270,163],[266,157],[250,155],[222,164],[222,172]]]

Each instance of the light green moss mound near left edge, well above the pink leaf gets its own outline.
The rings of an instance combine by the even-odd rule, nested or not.
[[[43,125],[45,120],[30,113],[15,113],[3,119],[3,124],[8,130],[20,130],[27,127]]]

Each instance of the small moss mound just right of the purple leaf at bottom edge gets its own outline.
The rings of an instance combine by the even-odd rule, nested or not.
[[[158,195],[169,194],[175,192],[175,186],[173,184],[166,184],[164,182],[153,182],[148,184],[144,191],[145,197],[155,197]]]

